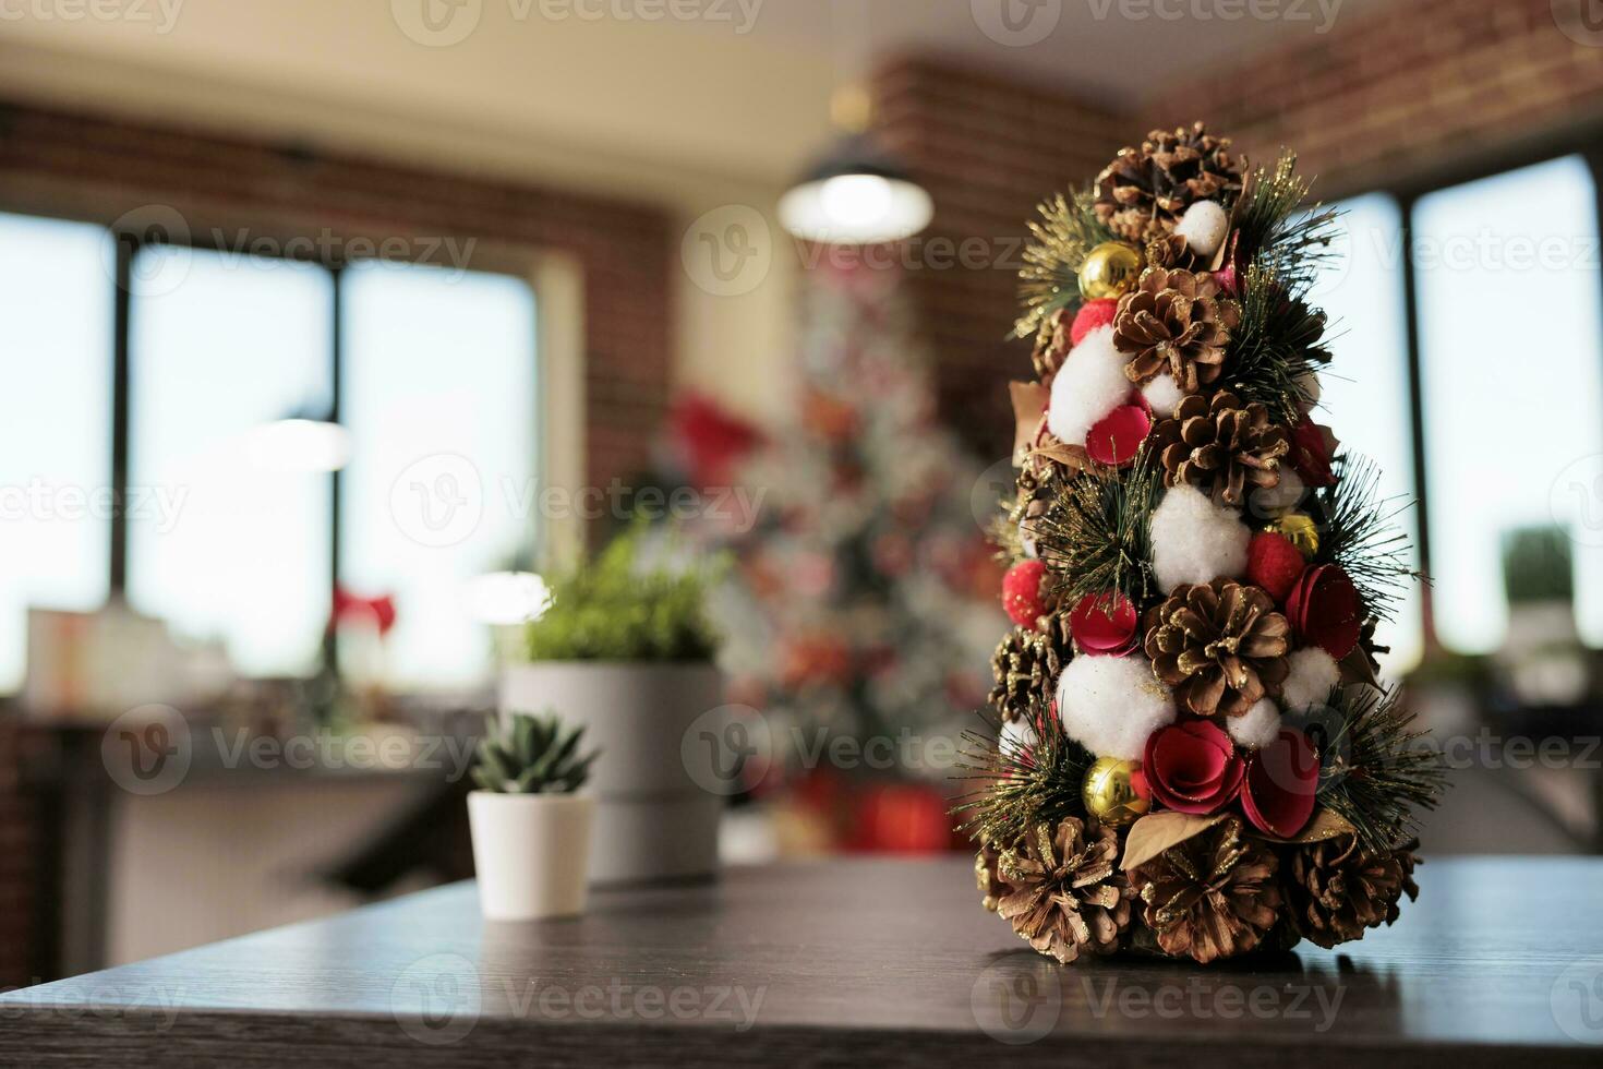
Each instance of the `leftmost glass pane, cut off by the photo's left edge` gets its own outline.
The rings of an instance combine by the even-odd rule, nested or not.
[[[111,261],[103,228],[0,215],[0,692],[22,683],[27,606],[106,601]]]

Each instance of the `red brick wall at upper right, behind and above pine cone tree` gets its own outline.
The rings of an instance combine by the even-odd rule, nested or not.
[[[874,85],[882,136],[935,196],[920,240],[1016,236],[1042,196],[1193,119],[1254,160],[1290,144],[1327,199],[1515,165],[1603,130],[1603,48],[1566,37],[1550,0],[1396,0],[1124,115],[933,61],[888,63]],[[944,412],[989,457],[1010,441],[1003,383],[1029,373],[1026,343],[1003,340],[1015,268],[923,269],[914,287]]]

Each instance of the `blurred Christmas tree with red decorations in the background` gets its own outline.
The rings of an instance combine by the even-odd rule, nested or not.
[[[915,325],[899,272],[816,268],[795,418],[742,436],[692,402],[678,426],[697,481],[761,494],[757,524],[725,532],[741,577],[717,604],[734,700],[763,710],[776,760],[811,790],[869,777],[880,787],[861,806],[875,806],[885,781],[927,784],[927,814],[899,787],[893,808],[935,846],[949,832],[935,806],[952,747],[986,700],[1003,617],[970,506],[981,465],[936,420]]]

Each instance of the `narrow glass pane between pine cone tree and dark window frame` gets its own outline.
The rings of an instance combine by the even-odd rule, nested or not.
[[[1417,535],[1414,446],[1407,397],[1407,333],[1403,311],[1403,215],[1383,194],[1345,200],[1335,260],[1319,277],[1313,303],[1329,316],[1334,359],[1319,377],[1321,410],[1342,447],[1380,466],[1380,495],[1407,505],[1393,522]],[[1419,567],[1419,550],[1409,563]],[[1423,652],[1423,604],[1411,585],[1396,619],[1382,623],[1375,641],[1390,646],[1380,657],[1387,675],[1399,676]]]

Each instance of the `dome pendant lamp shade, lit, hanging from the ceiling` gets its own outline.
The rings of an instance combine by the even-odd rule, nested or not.
[[[933,213],[930,194],[861,135],[843,138],[779,199],[787,231],[832,245],[911,237]]]

